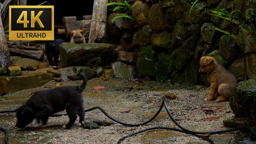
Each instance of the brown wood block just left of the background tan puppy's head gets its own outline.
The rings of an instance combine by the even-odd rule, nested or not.
[[[80,21],[76,20],[76,16],[64,16],[62,21],[65,27],[66,37],[71,37],[70,31],[80,28]]]

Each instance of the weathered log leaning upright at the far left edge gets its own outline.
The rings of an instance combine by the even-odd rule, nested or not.
[[[1,4],[1,7],[3,5]],[[1,9],[0,9],[1,11]],[[0,67],[10,66],[10,53],[7,47],[6,37],[4,34],[3,22],[0,16]]]

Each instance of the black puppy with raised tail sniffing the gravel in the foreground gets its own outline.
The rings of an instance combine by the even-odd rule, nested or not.
[[[69,129],[79,116],[78,125],[81,126],[85,120],[85,110],[83,108],[82,91],[85,89],[87,77],[80,72],[83,77],[81,86],[62,86],[44,91],[36,91],[27,102],[16,109],[16,127],[23,128],[30,124],[34,118],[37,122],[42,120],[41,127],[45,127],[49,116],[66,109],[69,122],[63,128]]]

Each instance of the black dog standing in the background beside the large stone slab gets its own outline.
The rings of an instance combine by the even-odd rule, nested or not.
[[[59,55],[60,55],[60,44],[63,43],[63,39],[45,40],[45,50],[47,59],[50,63],[50,67],[57,67]],[[52,58],[54,61],[52,62]]]

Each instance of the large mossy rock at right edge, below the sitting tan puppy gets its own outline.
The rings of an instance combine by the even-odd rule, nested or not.
[[[237,117],[248,117],[256,124],[256,80],[241,81],[229,99],[231,110]]]

